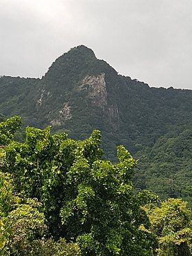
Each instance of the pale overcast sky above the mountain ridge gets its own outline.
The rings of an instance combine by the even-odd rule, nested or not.
[[[191,0],[0,0],[0,75],[39,77],[86,45],[122,75],[192,89]]]

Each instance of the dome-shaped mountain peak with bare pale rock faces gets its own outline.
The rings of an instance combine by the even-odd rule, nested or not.
[[[116,131],[119,113],[116,100],[108,92],[113,86],[108,81],[110,73],[118,79],[115,69],[97,60],[93,51],[82,45],[60,56],[38,84],[38,124],[74,131],[72,126],[77,122],[78,132],[104,126]],[[89,128],[84,126],[86,120]]]

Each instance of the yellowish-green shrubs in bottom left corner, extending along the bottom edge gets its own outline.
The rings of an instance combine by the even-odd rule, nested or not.
[[[0,255],[79,256],[77,244],[47,239],[45,217],[36,199],[16,196],[10,174],[0,172]]]

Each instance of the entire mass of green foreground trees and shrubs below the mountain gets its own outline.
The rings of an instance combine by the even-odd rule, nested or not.
[[[20,143],[19,126],[19,117],[0,124],[2,255],[191,255],[191,210],[134,194],[136,161],[123,146],[112,164],[98,130],[75,141],[27,127]]]

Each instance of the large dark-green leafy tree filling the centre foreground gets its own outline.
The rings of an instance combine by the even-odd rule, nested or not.
[[[147,191],[133,194],[130,178],[136,161],[119,146],[119,163],[101,160],[101,135],[68,139],[50,128],[26,129],[25,143],[5,147],[3,170],[15,189],[38,198],[53,237],[77,242],[82,255],[154,255],[156,238],[142,208],[156,199]],[[145,229],[141,229],[141,224]]]

